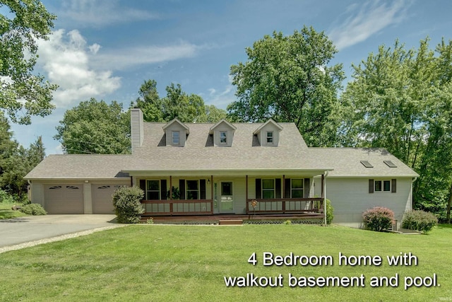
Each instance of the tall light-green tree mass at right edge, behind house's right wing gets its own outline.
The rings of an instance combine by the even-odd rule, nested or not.
[[[343,93],[352,146],[383,147],[415,169],[415,207],[445,213],[452,196],[452,42],[417,50],[396,41],[354,65]]]

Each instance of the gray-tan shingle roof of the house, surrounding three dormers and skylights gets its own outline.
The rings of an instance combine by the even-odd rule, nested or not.
[[[295,124],[280,123],[279,146],[258,146],[253,132],[263,123],[233,123],[232,146],[213,146],[212,123],[189,124],[183,147],[165,146],[165,123],[144,123],[144,141],[133,155],[51,155],[26,179],[108,179],[128,177],[142,171],[325,171],[331,176],[402,176],[417,174],[383,149],[308,148]],[[397,168],[389,168],[390,160]],[[369,161],[374,168],[365,168]],[[122,171],[122,172],[121,172]],[[212,173],[215,174],[215,173]],[[317,173],[318,174],[318,173]],[[209,174],[210,175],[210,174]]]

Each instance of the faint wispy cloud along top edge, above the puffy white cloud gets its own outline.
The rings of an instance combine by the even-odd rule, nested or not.
[[[66,0],[57,13],[78,28],[158,19],[155,13],[119,6],[117,0]]]

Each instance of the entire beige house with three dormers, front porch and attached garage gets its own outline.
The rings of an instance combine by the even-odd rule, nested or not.
[[[49,214],[107,214],[115,188],[136,185],[149,216],[323,217],[328,197],[334,223],[359,227],[375,206],[400,224],[418,176],[383,149],[309,148],[295,124],[274,120],[143,122],[133,109],[131,146],[131,155],[48,156],[25,177],[32,202]]]

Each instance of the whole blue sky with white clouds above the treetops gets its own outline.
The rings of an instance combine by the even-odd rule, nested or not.
[[[170,83],[201,95],[208,105],[234,101],[230,66],[245,62],[245,47],[274,30],[291,35],[303,25],[324,31],[338,47],[331,64],[351,65],[392,46],[398,38],[417,48],[429,36],[452,39],[452,1],[250,0],[250,1],[42,1],[58,16],[49,41],[39,43],[35,71],[59,85],[57,109],[12,124],[14,137],[29,146],[42,136],[46,153],[61,153],[52,137],[64,112],[83,100],[117,100],[128,108],[148,79],[160,96]],[[4,13],[0,8],[0,13]]]

